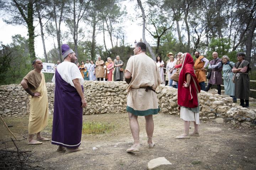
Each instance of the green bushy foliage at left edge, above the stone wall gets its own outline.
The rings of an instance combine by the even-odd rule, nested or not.
[[[10,45],[1,44],[0,85],[20,84],[32,70],[28,40],[18,34],[12,36],[12,41]]]

